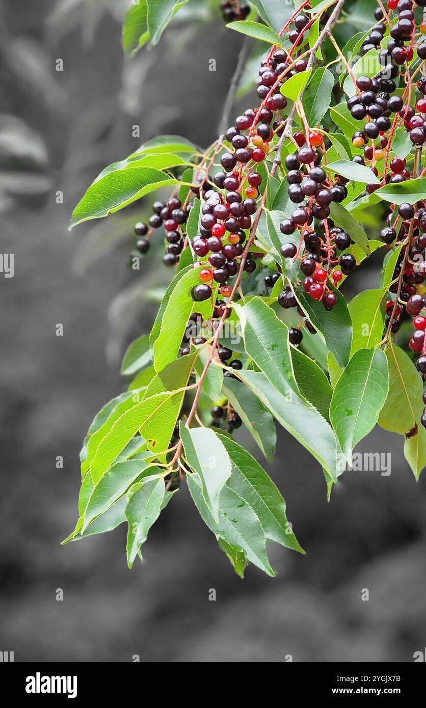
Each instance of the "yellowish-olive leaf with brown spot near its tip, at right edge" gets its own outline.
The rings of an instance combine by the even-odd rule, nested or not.
[[[389,342],[386,348],[389,365],[389,392],[379,416],[379,425],[391,433],[413,438],[418,433],[422,401],[422,379],[403,349]]]

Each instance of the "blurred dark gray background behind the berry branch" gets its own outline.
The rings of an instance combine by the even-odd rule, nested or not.
[[[391,475],[347,472],[330,503],[319,465],[279,430],[267,469],[307,554],[271,546],[276,579],[253,566],[237,578],[184,488],[133,571],[124,527],[60,546],[77,519],[82,438],[122,389],[120,357],[149,330],[170,275],[160,244],[140,273],[128,268],[132,224],[150,198],[69,233],[72,208],[144,139],[213,141],[240,37],[192,4],[159,46],[127,62],[116,0],[0,8],[1,250],[16,270],[0,274],[0,650],[15,661],[413,661],[426,645],[425,479],[416,483],[403,441],[379,428],[360,450],[391,452]],[[364,268],[362,287],[376,275]]]

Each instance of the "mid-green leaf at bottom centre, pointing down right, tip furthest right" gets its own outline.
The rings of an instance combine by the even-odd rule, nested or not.
[[[303,553],[286,517],[286,502],[279,489],[257,460],[240,445],[218,431],[228,452],[232,474],[227,486],[251,506],[259,518],[264,535],[276,543]],[[220,507],[222,510],[222,506]]]

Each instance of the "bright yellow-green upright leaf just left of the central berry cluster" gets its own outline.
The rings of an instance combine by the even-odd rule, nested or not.
[[[181,273],[181,278],[175,278],[173,281],[173,290],[167,291],[169,295],[167,297],[166,294],[166,306],[164,309],[160,308],[162,309],[161,325],[152,346],[154,366],[157,371],[161,371],[169,362],[176,359],[191,314],[199,312],[203,319],[208,320],[213,312],[213,304],[210,299],[204,302],[194,302],[191,297],[192,288],[201,282],[198,268],[189,266],[188,270],[182,270]],[[171,298],[172,292],[173,297]]]

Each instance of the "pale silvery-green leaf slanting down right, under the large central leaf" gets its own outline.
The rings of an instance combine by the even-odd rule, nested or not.
[[[339,473],[337,454],[340,450],[335,433],[325,418],[290,387],[286,394],[281,394],[261,372],[240,370],[236,373],[267,406],[281,426],[301,442],[336,481]]]

